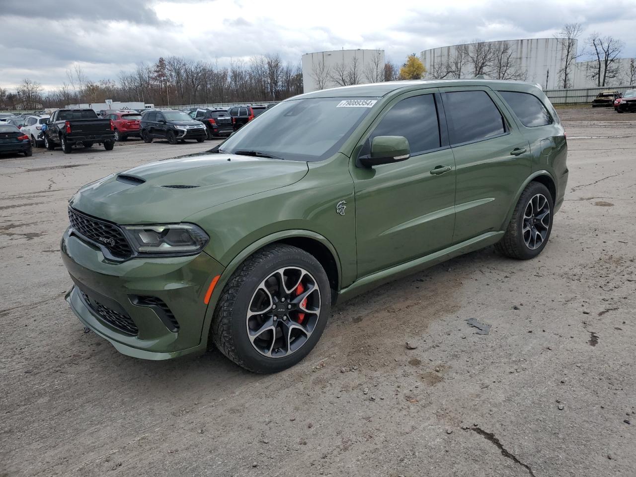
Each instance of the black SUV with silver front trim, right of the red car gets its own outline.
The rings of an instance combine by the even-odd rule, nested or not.
[[[141,139],[153,142],[153,139],[167,139],[170,144],[185,139],[205,141],[205,126],[195,121],[183,111],[149,111],[141,116]]]

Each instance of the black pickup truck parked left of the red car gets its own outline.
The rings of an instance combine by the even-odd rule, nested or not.
[[[106,151],[112,151],[115,144],[111,121],[98,118],[92,109],[53,111],[46,125],[44,142],[49,150],[59,144],[65,154],[70,154],[78,144],[90,148],[98,142],[104,144]]]

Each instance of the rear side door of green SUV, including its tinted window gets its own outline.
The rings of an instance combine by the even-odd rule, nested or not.
[[[441,88],[457,165],[453,244],[504,230],[532,170],[528,140],[490,88]]]

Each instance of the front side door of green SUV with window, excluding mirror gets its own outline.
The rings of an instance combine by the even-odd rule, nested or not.
[[[394,99],[361,139],[368,154],[379,135],[408,139],[403,162],[365,169],[352,161],[356,192],[358,278],[405,263],[450,244],[455,221],[455,160],[448,147],[436,90]]]

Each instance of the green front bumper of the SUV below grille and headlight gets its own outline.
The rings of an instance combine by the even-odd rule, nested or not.
[[[66,296],[71,309],[84,326],[118,351],[143,359],[169,359],[205,350],[205,293],[212,277],[223,272],[223,266],[209,255],[114,262],[69,230],[60,249],[74,281]],[[174,315],[177,329],[167,324],[157,308],[140,305],[139,297],[162,300]],[[104,319],[95,303],[127,316],[136,334]]]

